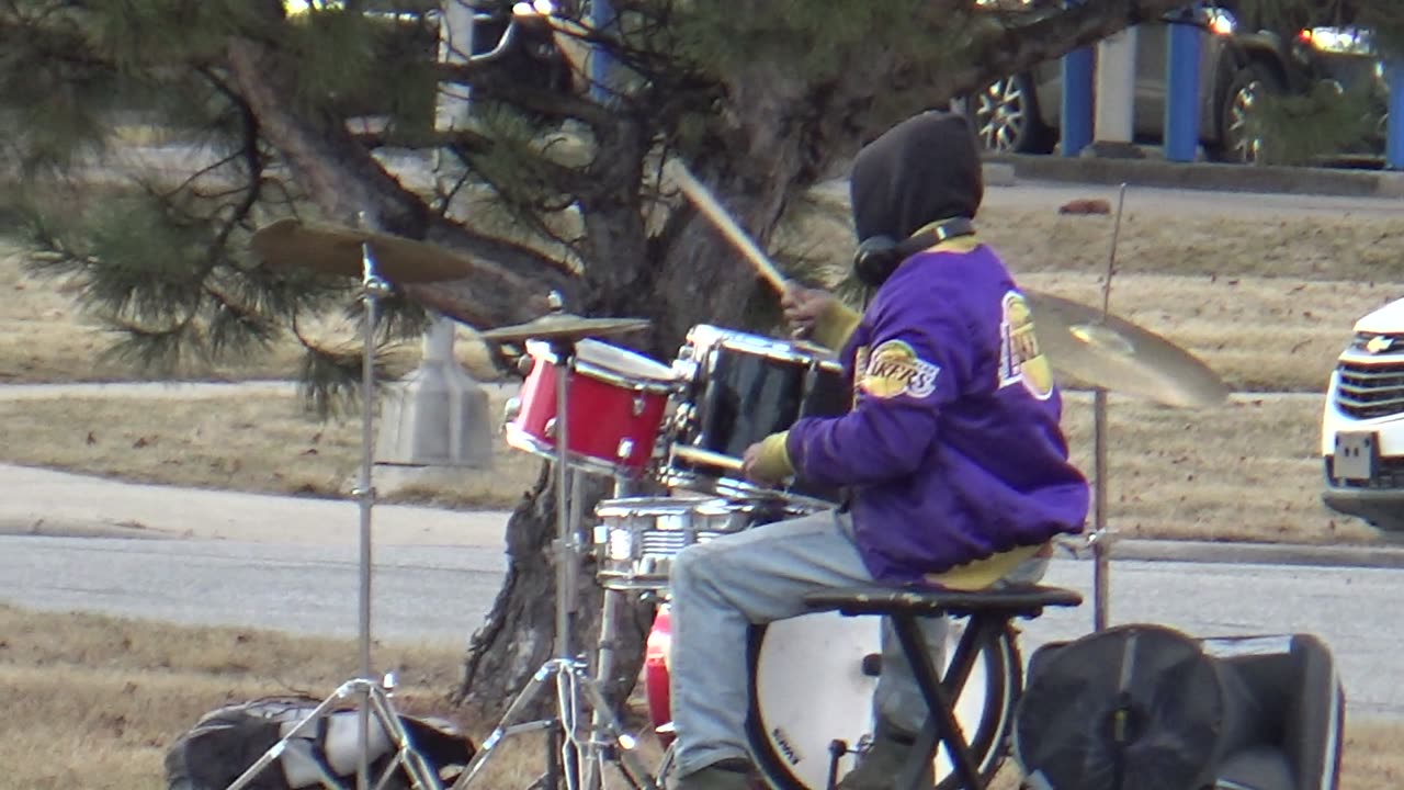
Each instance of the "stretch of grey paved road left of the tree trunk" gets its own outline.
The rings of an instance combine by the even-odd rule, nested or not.
[[[501,586],[503,550],[375,548],[376,638],[465,641]],[[230,540],[0,537],[0,600],[192,626],[354,637],[359,550]]]

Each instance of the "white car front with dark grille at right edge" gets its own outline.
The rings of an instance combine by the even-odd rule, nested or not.
[[[1355,323],[1321,417],[1323,500],[1404,531],[1404,299]]]

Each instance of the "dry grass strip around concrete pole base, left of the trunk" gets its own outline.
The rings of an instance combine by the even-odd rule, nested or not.
[[[501,413],[501,398],[489,413]],[[199,399],[3,401],[0,460],[121,479],[264,493],[347,496],[361,462],[359,419],[317,422],[296,395]],[[535,455],[493,446],[493,465],[452,484],[386,489],[385,499],[511,507],[535,482]]]

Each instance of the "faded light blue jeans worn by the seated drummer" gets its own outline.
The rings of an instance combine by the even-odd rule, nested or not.
[[[1000,586],[1035,583],[1046,566],[1047,559],[1031,559]],[[809,593],[872,582],[854,543],[852,520],[834,510],[764,524],[678,552],[670,575],[677,775],[722,759],[750,759],[746,642],[751,624],[807,613]],[[941,666],[946,620],[924,620],[922,630]],[[927,706],[890,624],[883,627],[882,645],[883,672],[873,708],[894,727],[915,732],[925,721]]]

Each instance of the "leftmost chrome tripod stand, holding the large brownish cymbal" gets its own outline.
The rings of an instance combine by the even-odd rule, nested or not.
[[[357,499],[361,514],[361,592],[359,592],[359,654],[361,676],[343,683],[330,697],[313,708],[312,713],[299,721],[282,739],[268,748],[244,773],[241,773],[226,790],[243,790],[268,769],[288,749],[296,738],[314,737],[313,724],[336,711],[337,703],[347,697],[357,697],[358,741],[357,741],[357,790],[371,787],[385,787],[397,768],[403,768],[409,776],[411,787],[416,790],[442,790],[438,770],[428,765],[410,739],[409,732],[400,721],[395,706],[390,703],[389,690],[395,685],[392,676],[382,680],[371,678],[371,510],[375,506],[375,489],[371,485],[372,453],[373,453],[373,420],[375,420],[375,323],[380,299],[390,292],[390,285],[376,273],[375,254],[369,242],[361,243],[361,299],[365,304],[364,343],[365,357],[361,371],[361,472],[355,488],[351,491]],[[395,758],[385,766],[375,783],[371,783],[371,715],[375,715],[382,732],[395,746]],[[341,789],[334,776],[323,775],[324,787]]]

